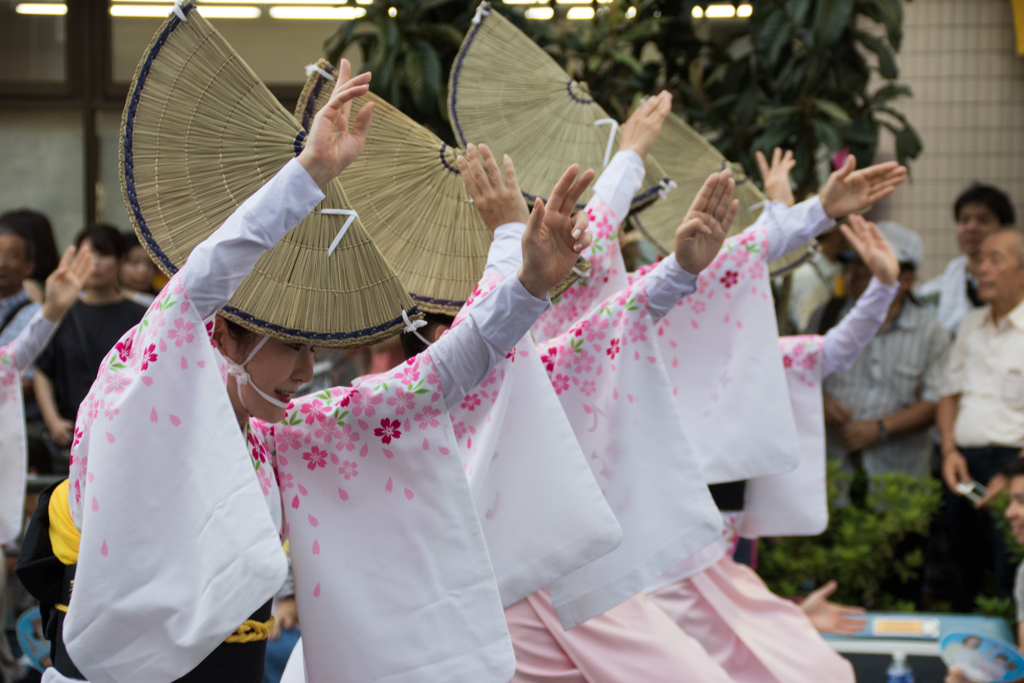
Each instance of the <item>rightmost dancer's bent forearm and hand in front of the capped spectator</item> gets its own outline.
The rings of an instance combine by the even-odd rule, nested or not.
[[[821,355],[824,376],[842,372],[854,364],[864,347],[874,339],[889,312],[889,305],[899,291],[896,282],[899,262],[878,226],[860,216],[851,215],[850,225],[843,225],[842,230],[874,276],[857,299],[853,310],[825,334]]]

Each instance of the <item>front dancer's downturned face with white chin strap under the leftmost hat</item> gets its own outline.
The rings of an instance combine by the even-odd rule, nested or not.
[[[244,362],[255,346],[242,348],[227,330],[223,318],[217,316],[213,341],[226,357],[236,362]],[[285,409],[279,408],[260,396],[252,387],[258,386],[265,393],[288,403],[299,387],[313,378],[313,347],[308,344],[292,344],[270,338],[256,353],[246,371],[252,378],[251,384],[242,386],[242,398],[233,377],[228,377],[227,394],[236,414],[248,414],[263,422],[275,423],[285,419]]]

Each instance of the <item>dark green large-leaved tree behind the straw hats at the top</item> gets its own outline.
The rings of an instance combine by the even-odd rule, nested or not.
[[[613,0],[589,22],[529,22],[522,6],[494,2],[544,47],[598,102],[625,119],[637,99],[662,88],[676,109],[732,161],[757,177],[754,152],[793,148],[800,195],[818,184],[829,153],[849,148],[870,163],[881,127],[901,162],[921,138],[894,100],[895,53],[904,0],[758,0],[750,20],[694,20],[693,0]],[[452,141],[444,97],[449,72],[475,0],[379,0],[328,40],[336,61],[352,44],[374,72],[371,86]],[[395,9],[390,16],[389,8]],[[563,12],[556,6],[556,12]],[[509,65],[514,69],[515,65]],[[872,73],[880,77],[869,85]]]

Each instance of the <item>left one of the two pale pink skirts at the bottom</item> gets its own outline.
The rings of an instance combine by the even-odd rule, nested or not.
[[[513,683],[734,683],[643,595],[564,631],[542,590],[505,610]]]

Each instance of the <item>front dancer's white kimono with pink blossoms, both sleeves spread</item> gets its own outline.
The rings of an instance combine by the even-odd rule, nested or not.
[[[281,425],[251,421],[247,447],[204,324],[323,198],[287,165],[197,248],[80,410],[69,503],[82,538],[63,638],[95,683],[166,682],[195,668],[281,588],[283,537],[310,681],[512,675],[446,403],[547,302],[510,279],[379,385],[296,399]]]

